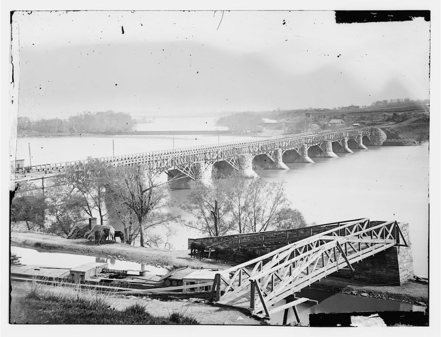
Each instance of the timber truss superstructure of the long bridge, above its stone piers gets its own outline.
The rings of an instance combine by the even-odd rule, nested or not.
[[[347,142],[348,139],[354,139],[360,143],[360,139],[363,136],[370,137],[372,128],[377,127],[379,126],[315,131],[241,142],[101,157],[98,159],[109,166],[141,165],[143,169],[158,174],[177,170],[181,176],[197,179],[197,173],[195,172],[196,163],[212,165],[215,162],[224,160],[231,167],[238,170],[238,158],[240,156],[266,154],[274,162],[275,152],[277,151],[281,155],[288,150],[295,150],[300,154],[302,146],[318,145],[321,147],[321,144],[326,141],[342,143],[343,140]],[[87,162],[88,160],[86,159],[15,168],[11,181],[29,181],[56,176],[70,168],[80,169]]]

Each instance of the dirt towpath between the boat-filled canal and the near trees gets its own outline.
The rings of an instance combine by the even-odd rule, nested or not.
[[[11,233],[11,245],[34,249],[46,249],[53,252],[91,255],[98,257],[117,257],[118,259],[170,267],[189,266],[192,268],[227,267],[223,263],[210,260],[199,260],[189,256],[189,250],[170,251],[161,248],[143,248],[124,243],[95,245],[86,239],[66,239],[37,233]]]

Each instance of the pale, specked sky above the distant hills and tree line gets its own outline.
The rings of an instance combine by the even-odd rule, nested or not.
[[[422,18],[336,24],[333,11],[55,11],[15,12],[13,21],[19,116],[184,117],[429,97]]]

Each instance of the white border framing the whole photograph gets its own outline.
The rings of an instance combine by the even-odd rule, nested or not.
[[[274,334],[283,332],[285,334],[302,335],[324,335],[341,336],[346,334],[388,334],[401,336],[415,336],[424,334],[426,336],[440,336],[440,1],[439,0],[321,0],[321,1],[155,1],[145,3],[146,1],[96,1],[96,0],[1,0],[1,66],[0,66],[0,84],[1,84],[1,181],[0,181],[0,242],[1,242],[1,317],[0,333],[2,336],[78,336],[85,333],[88,335],[111,334],[111,336],[127,336],[129,334],[161,334],[167,336],[175,334],[176,336],[186,336],[190,334],[206,334],[210,336],[220,336],[230,334]],[[8,297],[9,297],[9,226],[8,226],[8,204],[9,195],[6,186],[9,187],[9,83],[10,83],[10,25],[9,12],[11,10],[66,10],[66,9],[84,9],[84,10],[215,10],[215,9],[279,9],[279,10],[361,10],[361,9],[429,9],[431,10],[431,76],[430,76],[430,328],[357,328],[354,329],[326,329],[326,328],[289,328],[289,327],[249,327],[249,326],[65,326],[65,325],[9,325],[8,320]],[[285,330],[282,330],[285,329]],[[288,330],[289,329],[289,330]],[[295,329],[295,330],[294,330]]]

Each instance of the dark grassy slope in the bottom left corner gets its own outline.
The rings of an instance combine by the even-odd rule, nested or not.
[[[112,294],[80,292],[69,286],[47,289],[33,284],[11,311],[11,323],[22,324],[198,324],[181,312],[155,316],[135,303],[118,311],[111,307]],[[13,314],[20,311],[20,316]]]

